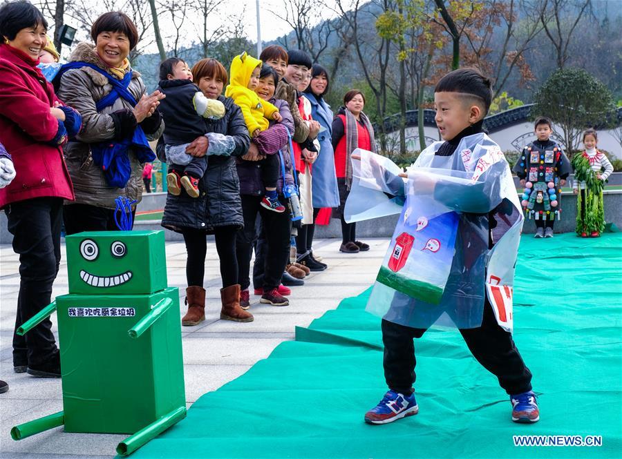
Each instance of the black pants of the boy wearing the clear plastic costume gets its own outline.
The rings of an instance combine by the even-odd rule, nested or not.
[[[417,363],[413,338],[421,338],[426,330],[384,319],[381,326],[386,384],[393,391],[410,394],[413,392]],[[531,372],[525,367],[511,333],[498,325],[488,301],[484,304],[482,326],[460,329],[460,333],[473,357],[498,378],[500,386],[508,394],[531,391]]]

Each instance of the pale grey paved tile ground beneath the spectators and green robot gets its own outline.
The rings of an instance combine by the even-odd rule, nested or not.
[[[251,295],[254,322],[239,324],[220,320],[220,276],[214,242],[209,242],[205,270],[207,320],[183,327],[184,373],[187,406],[200,395],[243,375],[254,363],[267,358],[281,342],[294,339],[294,326],[307,326],[325,311],[338,306],[343,297],[358,295],[372,284],[387,239],[366,240],[370,251],[357,255],[339,253],[340,240],[317,240],[314,252],[323,257],[328,270],[312,273],[305,286],[292,288],[290,306],[259,304]],[[185,246],[167,243],[170,286],[180,289],[181,313],[185,313]],[[9,245],[0,245],[0,379],[10,385],[0,395],[0,457],[9,458],[106,458],[126,436],[64,433],[62,427],[15,442],[10,429],[15,424],[62,411],[60,380],[32,378],[12,370],[11,339],[15,324],[15,304],[19,291],[19,262]],[[53,297],[67,293],[67,271],[63,261],[54,284]],[[252,293],[252,292],[251,292]],[[57,332],[55,315],[53,330]]]

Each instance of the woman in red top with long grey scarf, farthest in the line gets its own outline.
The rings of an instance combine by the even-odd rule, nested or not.
[[[337,173],[339,188],[339,207],[334,211],[334,217],[341,219],[340,252],[358,253],[368,251],[368,244],[356,240],[356,224],[346,223],[343,218],[343,208],[350,194],[352,185],[352,151],[357,148],[376,151],[374,128],[369,118],[363,113],[365,96],[357,89],[346,92],[343,96],[343,107],[339,108],[337,116],[332,120],[332,148],[334,148],[334,169]]]

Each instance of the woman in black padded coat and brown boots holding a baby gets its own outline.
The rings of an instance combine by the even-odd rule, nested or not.
[[[186,304],[182,325],[192,326],[205,320],[205,257],[207,235],[213,234],[220,260],[220,318],[251,322],[253,315],[240,307],[240,284],[236,257],[236,233],[244,226],[240,181],[236,157],[245,155],[250,143],[242,110],[231,97],[223,97],[227,70],[216,59],[201,59],[192,67],[192,81],[208,99],[225,105],[225,116],[205,121],[205,135],[196,138],[186,150],[195,157],[209,156],[201,177],[198,197],[185,191],[167,195],[162,226],[182,233],[188,253],[186,259]],[[158,156],[166,160],[164,144],[158,144]]]

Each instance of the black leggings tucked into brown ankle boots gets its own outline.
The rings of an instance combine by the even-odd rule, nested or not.
[[[205,278],[205,255],[207,255],[207,234],[199,229],[182,231],[186,243],[186,280],[188,286],[203,286]],[[231,226],[214,229],[216,252],[220,261],[220,278],[223,289],[238,284],[238,262],[236,259],[236,231]]]

